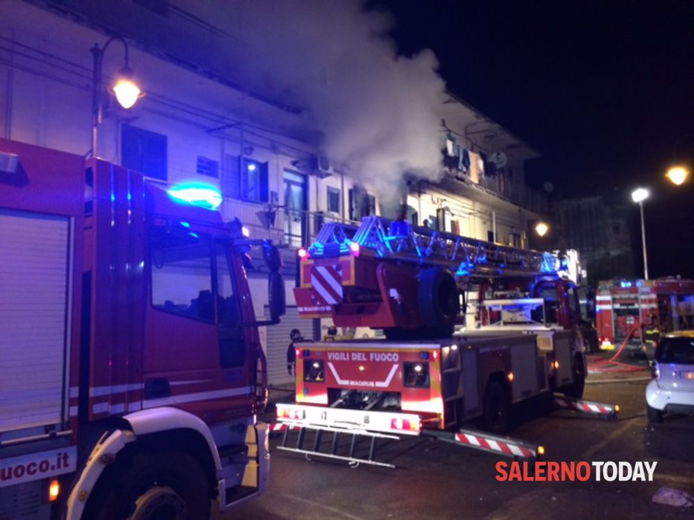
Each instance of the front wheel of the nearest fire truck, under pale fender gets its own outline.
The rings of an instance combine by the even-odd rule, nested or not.
[[[208,478],[188,453],[138,454],[92,497],[96,503],[85,513],[97,520],[206,519],[210,497]]]

